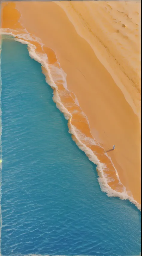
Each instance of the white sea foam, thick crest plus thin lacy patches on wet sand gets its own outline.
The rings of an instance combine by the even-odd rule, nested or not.
[[[23,33],[25,32],[25,34]],[[72,114],[67,110],[67,108],[64,106],[64,104],[61,102],[61,98],[60,98],[60,91],[58,90],[58,86],[55,84],[55,80],[57,80],[57,84],[58,84],[58,80],[62,80],[64,81],[64,88],[65,90],[67,90],[68,92],[70,92],[67,89],[67,82],[66,82],[66,75],[64,73],[64,71],[61,68],[56,67],[56,69],[54,70],[54,65],[48,64],[47,60],[48,60],[48,56],[45,54],[45,52],[43,51],[43,54],[39,54],[36,52],[36,46],[32,43],[29,43],[28,41],[35,41],[38,42],[43,50],[43,46],[44,44],[41,42],[41,40],[37,37],[31,37],[27,31],[25,31],[25,29],[22,30],[21,34],[16,34],[16,31],[12,30],[12,29],[1,29],[1,34],[3,35],[10,35],[12,37],[14,37],[14,39],[22,44],[26,44],[28,46],[28,51],[29,51],[29,55],[31,58],[33,58],[34,60],[36,60],[37,62],[39,62],[45,69],[47,72],[47,76],[46,76],[46,82],[53,88],[53,100],[56,103],[56,106],[59,108],[59,110],[64,113],[64,117],[65,119],[67,119],[68,122],[68,127],[69,127],[69,132],[70,134],[73,135],[72,139],[75,140],[75,143],[77,144],[77,146],[84,151],[84,153],[87,155],[87,157],[89,158],[90,161],[92,161],[94,164],[97,165],[97,171],[99,174],[99,185],[101,187],[101,190],[103,192],[105,192],[107,194],[107,196],[109,197],[120,197],[120,199],[128,199],[130,202],[132,202],[133,204],[135,204],[139,210],[141,210],[141,205],[136,202],[133,197],[129,196],[126,192],[126,188],[122,185],[122,183],[120,182],[119,176],[118,176],[118,172],[114,167],[114,164],[111,160],[111,158],[108,156],[108,154],[105,152],[105,155],[108,157],[108,159],[111,161],[112,166],[114,167],[114,170],[116,172],[119,184],[121,184],[123,186],[123,192],[118,192],[116,190],[113,190],[109,185],[108,182],[110,182],[110,178],[108,178],[107,176],[105,176],[104,174],[104,170],[106,169],[106,166],[104,163],[101,163],[100,160],[97,158],[97,156],[93,153],[93,151],[87,147],[84,143],[82,143],[82,136],[84,137],[84,140],[86,140],[86,136],[85,134],[82,134],[80,131],[78,131],[76,129],[76,127],[74,125],[72,125],[71,120],[72,120]],[[27,41],[28,40],[28,41]],[[60,63],[58,63],[60,66]],[[52,75],[53,74],[53,75]],[[56,78],[56,75],[60,75],[60,79]],[[54,76],[54,79],[53,79]],[[71,92],[70,92],[71,93]],[[74,95],[75,96],[75,95]],[[77,101],[77,99],[76,99]],[[78,105],[78,102],[77,102]],[[82,114],[85,116],[85,114],[82,112]],[[86,116],[85,116],[86,117]],[[87,123],[89,125],[88,119],[86,117]],[[92,134],[91,134],[92,135]],[[93,136],[92,136],[93,137]],[[95,141],[95,139],[93,138],[88,138],[89,140],[91,140],[91,144],[95,143],[94,145],[97,145],[99,143],[97,143]],[[83,140],[83,141],[84,141]],[[88,141],[88,144],[90,143],[90,141]],[[99,147],[102,148],[102,146]]]

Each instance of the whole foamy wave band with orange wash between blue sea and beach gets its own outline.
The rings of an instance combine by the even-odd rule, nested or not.
[[[67,89],[66,74],[61,69],[55,52],[45,47],[40,38],[29,34],[26,29],[21,29],[18,33],[13,29],[2,28],[1,34],[12,36],[16,41],[26,44],[30,57],[41,64],[46,82],[53,88],[53,100],[68,120],[72,139],[89,160],[97,165],[101,190],[107,193],[107,196],[128,199],[141,210],[141,205],[127,194],[126,188],[120,182],[111,158],[91,134],[87,116],[82,112],[75,94]],[[81,123],[85,127],[84,130]]]

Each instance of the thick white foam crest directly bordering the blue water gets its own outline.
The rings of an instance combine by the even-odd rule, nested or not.
[[[34,46],[33,44],[31,44],[25,40],[15,38],[18,35],[13,34],[12,32],[4,32],[1,29],[1,34],[2,35],[11,35],[12,37],[14,37],[14,39],[17,42],[26,44],[28,46],[28,51],[29,51],[30,57],[33,58],[34,60],[36,60],[38,63],[40,63],[48,72],[48,76],[49,76],[50,80],[47,81],[47,79],[46,79],[46,82],[47,82],[47,84],[50,85],[50,87],[52,87],[54,89],[53,101],[56,103],[57,108],[64,114],[65,119],[71,120],[72,114],[64,107],[64,105],[61,102],[60,96],[58,94],[58,87],[56,86],[55,82],[52,79],[49,65],[36,54],[36,52],[35,52],[36,46]],[[75,140],[75,143],[77,144],[78,148],[81,149],[87,155],[87,157],[89,158],[89,160],[91,162],[93,162],[94,164],[97,165],[96,169],[99,174],[98,182],[99,182],[102,192],[105,192],[107,194],[107,196],[109,196],[109,197],[119,197],[122,200],[129,200],[131,203],[135,204],[136,207],[141,211],[141,205],[136,200],[134,200],[133,197],[129,196],[126,193],[126,188],[124,186],[123,186],[124,192],[118,192],[118,191],[113,190],[108,185],[107,178],[105,177],[104,172],[103,172],[103,169],[105,169],[105,164],[101,163],[99,161],[99,159],[97,158],[97,156],[93,153],[93,151],[90,148],[88,148],[84,143],[81,142],[81,140],[78,137],[78,134],[75,132],[75,126],[73,126],[71,123],[70,123],[69,133],[75,136],[75,138],[77,140],[77,141]],[[108,154],[106,152],[105,152],[105,155],[111,160],[111,158],[108,156]],[[111,161],[111,163],[114,167],[114,164],[112,161]],[[115,167],[114,167],[114,169],[115,169]],[[118,172],[116,169],[115,169],[115,171],[116,171],[117,177],[119,179]],[[120,182],[120,179],[119,179],[119,182]],[[122,184],[122,183],[120,182],[120,184]]]

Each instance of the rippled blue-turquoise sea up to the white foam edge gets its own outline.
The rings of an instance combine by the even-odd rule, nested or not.
[[[141,212],[100,190],[40,63],[10,37],[1,79],[1,255],[139,255]]]

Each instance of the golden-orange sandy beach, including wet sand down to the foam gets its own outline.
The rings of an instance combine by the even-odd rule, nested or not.
[[[139,204],[140,10],[137,1],[57,1],[3,3],[1,13],[5,33],[35,45],[42,58],[47,54],[58,95],[72,114],[69,129],[79,139],[72,138],[104,164],[109,187],[121,193],[125,187]],[[44,67],[43,72],[51,80]]]

